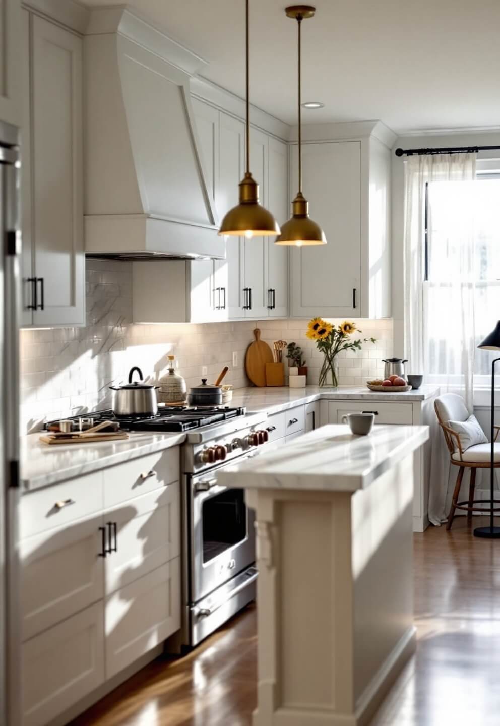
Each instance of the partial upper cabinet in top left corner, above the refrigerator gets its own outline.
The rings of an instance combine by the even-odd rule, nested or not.
[[[0,121],[20,126],[20,0],[0,0]]]

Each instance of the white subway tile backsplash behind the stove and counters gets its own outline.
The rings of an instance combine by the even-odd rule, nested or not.
[[[165,372],[169,354],[176,356],[188,387],[200,381],[204,365],[209,380],[229,365],[225,383],[248,386],[245,351],[255,327],[271,346],[279,338],[302,346],[308,383],[317,383],[321,354],[306,338],[306,320],[133,325],[131,275],[130,262],[88,260],[87,325],[21,331],[22,432],[38,430],[46,419],[110,407],[109,386],[123,382],[131,366],[138,365],[154,380]],[[377,338],[377,343],[341,354],[340,385],[361,385],[366,378],[382,375],[382,358],[393,355],[391,319],[360,320],[359,326],[364,338]],[[233,351],[237,367],[232,366]]]

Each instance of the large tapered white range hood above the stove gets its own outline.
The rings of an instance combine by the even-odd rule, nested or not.
[[[85,36],[89,256],[224,258],[197,151],[189,78],[205,61],[128,9]]]

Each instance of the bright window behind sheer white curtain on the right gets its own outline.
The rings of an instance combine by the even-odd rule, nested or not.
[[[459,383],[463,356],[473,356],[475,386],[488,385],[499,355],[475,348],[500,319],[500,175],[430,182],[425,221],[426,370]],[[464,325],[475,341],[468,352],[454,346]]]

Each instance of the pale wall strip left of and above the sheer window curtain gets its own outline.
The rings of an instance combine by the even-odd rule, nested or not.
[[[402,149],[419,149],[423,147],[448,146],[500,146],[500,131],[478,131],[473,134],[427,134],[425,136],[400,136],[393,147],[392,168],[392,242],[393,242],[393,323],[394,323],[394,351],[396,356],[403,356],[403,160],[406,157],[397,157],[394,151]],[[479,159],[500,158],[499,151],[483,151]]]

